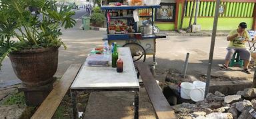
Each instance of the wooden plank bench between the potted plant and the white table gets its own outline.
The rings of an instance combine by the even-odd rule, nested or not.
[[[77,76],[80,67],[81,64],[71,64],[69,66],[53,90],[51,90],[39,108],[37,108],[31,119],[51,119],[53,117],[75,76]]]

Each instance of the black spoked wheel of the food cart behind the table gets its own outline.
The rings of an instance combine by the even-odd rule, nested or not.
[[[133,62],[141,60],[145,62],[146,52],[145,49],[138,43],[126,43],[123,47],[129,47],[131,50],[131,57],[133,57]],[[142,58],[142,59],[141,59]]]

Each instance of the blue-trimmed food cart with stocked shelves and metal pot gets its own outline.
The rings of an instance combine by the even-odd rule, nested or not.
[[[109,45],[117,43],[120,47],[129,47],[133,61],[145,61],[146,55],[153,55],[155,62],[155,40],[166,38],[166,35],[154,33],[154,10],[157,8],[160,5],[102,6],[107,18],[107,35],[103,41],[108,41]],[[145,25],[143,19],[150,23]]]

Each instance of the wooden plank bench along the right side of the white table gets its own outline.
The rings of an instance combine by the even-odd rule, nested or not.
[[[162,90],[155,81],[149,66],[145,62],[137,62],[135,66],[139,70],[139,75],[143,80],[151,104],[155,110],[155,114],[159,119],[174,119],[177,118],[175,112],[171,109],[170,104],[167,102]],[[139,76],[138,75],[138,76]]]

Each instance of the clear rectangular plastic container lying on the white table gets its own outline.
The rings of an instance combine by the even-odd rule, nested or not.
[[[110,55],[89,55],[86,59],[87,66],[109,66]]]

